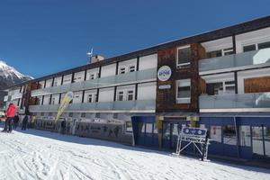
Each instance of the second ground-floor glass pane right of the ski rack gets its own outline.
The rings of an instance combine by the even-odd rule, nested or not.
[[[237,145],[235,126],[233,125],[223,126],[223,143],[229,145]]]

